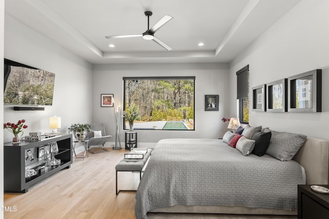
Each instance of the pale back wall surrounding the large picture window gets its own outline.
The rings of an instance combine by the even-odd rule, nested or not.
[[[228,64],[103,64],[94,65],[93,121],[103,122],[107,134],[115,137],[113,108],[100,107],[101,94],[114,94],[115,104],[123,107],[122,77],[129,76],[195,76],[195,131],[138,130],[138,142],[156,143],[162,138],[218,138],[227,131],[221,119],[228,114]],[[205,95],[218,94],[219,111],[205,111]],[[124,142],[122,120],[120,140]],[[115,139],[113,139],[115,142]],[[139,145],[139,147],[142,145]],[[150,145],[148,145],[150,146]],[[124,147],[124,146],[123,146]]]

